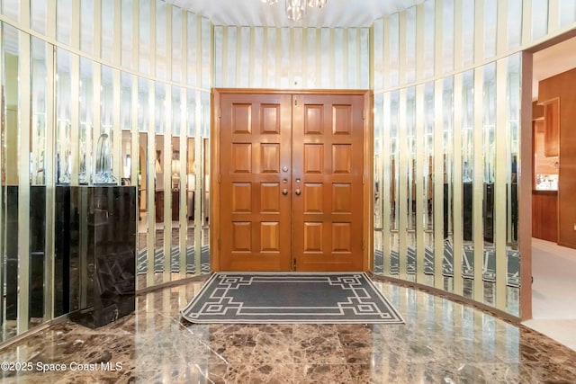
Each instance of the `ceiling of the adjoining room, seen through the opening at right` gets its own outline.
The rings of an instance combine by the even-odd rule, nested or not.
[[[576,67],[576,38],[564,40],[534,54],[532,100],[538,99],[538,82]]]

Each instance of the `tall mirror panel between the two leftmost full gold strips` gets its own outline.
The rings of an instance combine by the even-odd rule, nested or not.
[[[45,309],[47,51],[44,41],[31,38],[29,329],[42,322]]]

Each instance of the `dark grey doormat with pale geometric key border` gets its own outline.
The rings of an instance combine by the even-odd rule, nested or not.
[[[180,313],[202,324],[404,322],[364,272],[214,273]]]

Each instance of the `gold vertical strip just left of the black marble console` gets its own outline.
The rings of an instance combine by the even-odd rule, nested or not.
[[[46,73],[56,74],[56,66],[54,61],[54,46],[46,43]],[[0,73],[2,71],[0,70]],[[55,255],[55,204],[56,204],[56,188],[54,176],[54,163],[56,155],[54,148],[56,147],[56,108],[54,106],[55,97],[55,76],[46,76],[46,126],[49,127],[46,131],[46,153],[44,156],[44,172],[46,173],[46,243],[45,250],[45,265],[44,265],[44,321],[54,318],[54,257]],[[2,233],[2,230],[0,230]],[[0,269],[0,272],[2,269]]]

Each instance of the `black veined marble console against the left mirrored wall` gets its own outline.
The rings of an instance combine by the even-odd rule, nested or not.
[[[61,252],[56,264],[63,278],[63,286],[58,287],[62,295],[58,309],[70,311],[73,321],[92,328],[132,313],[136,290],[136,187],[58,188],[57,206],[61,204],[63,210],[57,213],[56,228],[64,235],[56,246],[57,254]]]

